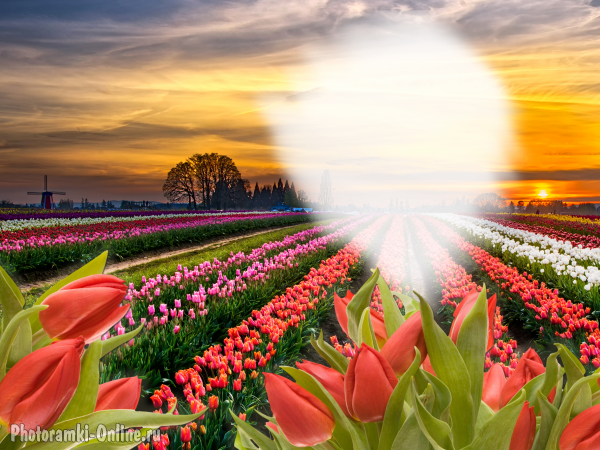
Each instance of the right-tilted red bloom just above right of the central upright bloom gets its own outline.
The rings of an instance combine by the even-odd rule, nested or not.
[[[427,358],[421,312],[417,311],[398,328],[381,349],[381,356],[398,376],[404,374],[415,359],[415,347],[421,352],[421,361]]]

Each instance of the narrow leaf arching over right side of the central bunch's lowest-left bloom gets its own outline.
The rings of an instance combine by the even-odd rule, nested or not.
[[[296,369],[295,367],[282,366],[281,368],[296,380],[298,386],[306,389],[321,400],[325,406],[327,406],[329,411],[331,411],[335,419],[334,434],[336,434],[336,439],[343,448],[368,450],[369,447],[364,431],[362,431],[354,421],[346,417],[340,408],[340,405],[338,405],[331,394],[318,380],[312,375],[300,369]],[[341,429],[338,430],[340,427]]]

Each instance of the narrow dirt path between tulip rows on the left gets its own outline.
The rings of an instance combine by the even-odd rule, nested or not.
[[[146,252],[146,253],[142,253],[140,256],[137,256],[132,259],[127,259],[125,261],[115,262],[115,263],[108,262],[106,264],[106,269],[104,270],[104,273],[105,274],[115,273],[120,270],[129,269],[131,267],[135,267],[135,266],[142,265],[142,264],[147,264],[149,262],[156,261],[159,259],[170,258],[172,256],[183,255],[183,254],[187,254],[187,253],[195,253],[195,252],[198,252],[201,250],[217,249],[219,247],[223,247],[224,245],[230,244],[234,241],[239,241],[240,239],[246,239],[249,237],[259,236],[261,234],[270,233],[272,231],[285,230],[287,228],[293,228],[298,225],[301,225],[301,224],[288,225],[285,227],[271,227],[271,228],[264,229],[262,231],[257,231],[255,233],[241,233],[241,234],[236,233],[236,234],[230,235],[226,238],[208,239],[207,241],[205,241],[202,244],[196,244],[196,245],[192,245],[189,247],[181,248],[179,250],[173,250],[173,251],[168,251],[168,252],[160,252],[160,250]],[[146,256],[144,256],[144,255],[146,255]],[[17,285],[21,289],[21,292],[25,292],[30,289],[43,287],[47,284],[54,284],[57,281],[64,278],[69,273],[71,273],[73,270],[74,269],[71,268],[67,272],[64,272],[64,268],[63,268],[63,270],[61,270],[61,272],[64,272],[64,273],[59,273],[58,275],[56,275],[54,277],[45,278],[43,280],[35,281],[32,283],[22,283],[21,284],[21,283],[17,282]]]

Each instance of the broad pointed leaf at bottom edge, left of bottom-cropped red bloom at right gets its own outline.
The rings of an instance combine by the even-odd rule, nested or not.
[[[525,403],[525,391],[521,390],[508,404],[485,422],[473,442],[470,450],[509,450],[512,432]]]

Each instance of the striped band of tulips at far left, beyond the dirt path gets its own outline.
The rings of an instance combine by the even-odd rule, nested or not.
[[[0,264],[22,274],[89,261],[105,250],[122,260],[217,236],[336,216],[257,211],[0,214]]]

